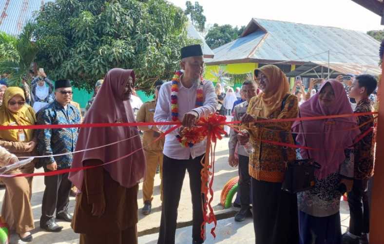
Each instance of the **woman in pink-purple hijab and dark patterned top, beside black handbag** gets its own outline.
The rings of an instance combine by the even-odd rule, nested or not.
[[[301,117],[352,114],[341,82],[327,80],[320,91],[300,106]],[[302,158],[321,164],[315,172],[315,186],[298,193],[300,244],[340,244],[340,198],[352,187],[353,140],[360,134],[354,117],[294,122],[296,142],[320,150],[303,150]],[[343,131],[344,130],[344,131]],[[311,134],[313,133],[313,134]],[[318,133],[318,134],[316,134]],[[306,143],[307,142],[307,143]],[[309,155],[308,155],[309,153]]]

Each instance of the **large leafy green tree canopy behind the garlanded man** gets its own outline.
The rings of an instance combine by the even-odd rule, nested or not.
[[[166,0],[57,0],[36,18],[38,64],[53,79],[91,90],[111,68],[134,69],[150,93],[179,68],[187,17]]]

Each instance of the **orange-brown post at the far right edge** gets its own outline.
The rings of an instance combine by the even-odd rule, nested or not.
[[[382,80],[384,78],[384,62],[382,62]],[[379,97],[379,118],[377,123],[376,137],[376,161],[375,180],[372,190],[372,209],[370,211],[370,244],[384,243],[384,85],[380,82]]]

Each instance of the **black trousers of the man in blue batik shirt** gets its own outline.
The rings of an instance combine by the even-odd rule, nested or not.
[[[69,193],[72,183],[68,180],[69,173],[44,176],[44,196],[41,206],[40,226],[55,221],[56,214],[68,211]]]

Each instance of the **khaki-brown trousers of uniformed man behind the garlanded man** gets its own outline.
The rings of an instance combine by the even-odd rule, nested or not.
[[[144,150],[145,159],[147,161],[147,173],[143,183],[143,201],[154,199],[154,176],[156,174],[157,165],[160,164],[160,179],[163,174],[163,152],[162,151],[147,151]],[[163,183],[160,183],[160,199],[163,201]]]

